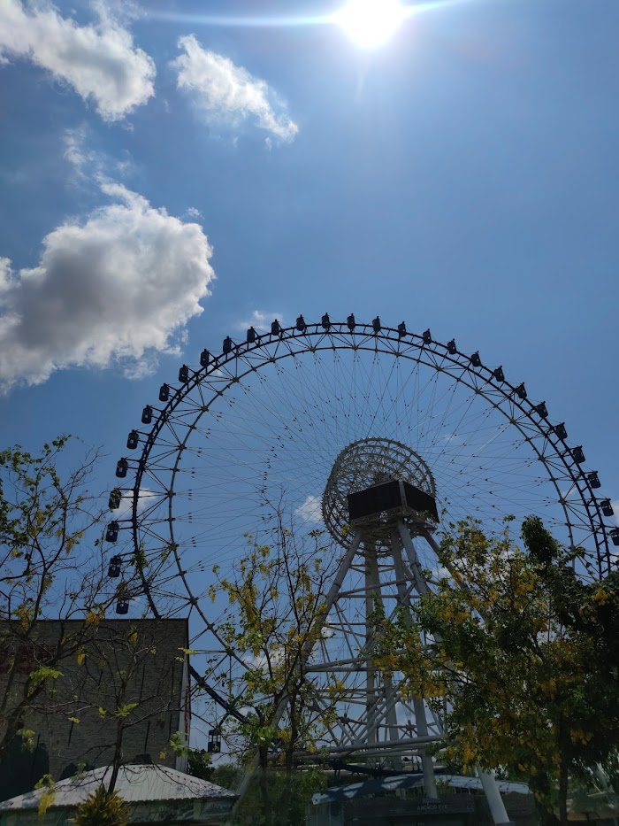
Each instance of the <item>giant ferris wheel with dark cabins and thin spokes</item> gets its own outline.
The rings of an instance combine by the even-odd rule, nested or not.
[[[218,636],[225,608],[208,597],[212,568],[232,570],[245,537],[281,513],[295,529],[325,530],[335,564],[328,633],[308,671],[318,703],[320,675],[347,685],[325,734],[333,755],[424,758],[440,736],[423,699],[403,704],[372,673],[368,595],[395,609],[431,588],[441,525],[474,518],[493,533],[508,516],[537,515],[562,544],[585,550],[580,573],[592,578],[607,574],[619,545],[598,474],[545,402],[478,352],[404,322],[325,313],[292,327],[273,320],[264,334],[249,328],[241,342],[228,336],[222,352],[203,350],[161,386],[127,449],[106,538],[118,548],[126,537],[128,550],[112,551],[110,573],[139,558],[150,612],[189,615],[218,663],[204,685],[226,714],[239,709],[213,688],[230,665]]]

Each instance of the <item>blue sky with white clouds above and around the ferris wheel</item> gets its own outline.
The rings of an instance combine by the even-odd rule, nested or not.
[[[2,446],[126,433],[278,317],[432,329],[526,382],[619,499],[619,5],[0,0]]]

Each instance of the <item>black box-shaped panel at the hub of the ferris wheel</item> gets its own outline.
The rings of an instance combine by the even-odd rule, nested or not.
[[[351,525],[360,520],[379,519],[382,513],[425,514],[432,521],[439,521],[434,497],[401,479],[391,479],[348,494],[348,517]]]

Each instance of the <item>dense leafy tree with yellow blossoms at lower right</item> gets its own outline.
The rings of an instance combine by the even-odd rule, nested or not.
[[[447,760],[524,779],[554,822],[567,823],[570,774],[604,760],[619,737],[619,579],[586,582],[585,554],[538,518],[486,537],[451,526],[439,564],[449,572],[413,617],[382,621],[380,668],[403,691],[447,710]]]

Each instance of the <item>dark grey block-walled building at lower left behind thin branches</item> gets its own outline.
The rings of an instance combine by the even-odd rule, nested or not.
[[[19,702],[27,675],[53,665],[20,721],[33,748],[24,750],[16,738],[0,767],[0,799],[30,790],[43,774],[60,780],[108,766],[115,755],[185,770],[171,741],[182,745],[189,734],[187,634],[185,619],[37,621],[27,639],[11,636],[3,623],[5,708]]]

